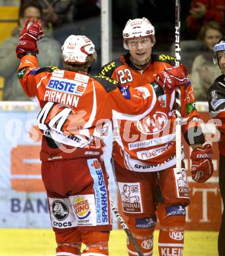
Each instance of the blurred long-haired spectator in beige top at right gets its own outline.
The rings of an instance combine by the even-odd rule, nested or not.
[[[196,100],[207,100],[209,87],[221,74],[220,68],[213,64],[213,47],[222,35],[225,35],[225,26],[214,21],[203,25],[199,32],[198,39],[203,42],[204,51],[194,58],[190,75]]]

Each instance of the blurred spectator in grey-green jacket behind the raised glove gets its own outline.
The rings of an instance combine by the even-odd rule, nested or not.
[[[26,1],[24,5],[20,6],[18,27],[12,31],[11,37],[0,45],[0,75],[5,78],[3,100],[29,100],[24,95],[24,91],[17,79],[16,68],[18,67],[19,60],[16,58],[14,51],[20,32],[28,18],[35,18],[35,20],[43,18],[41,6],[37,1]],[[40,49],[39,63],[41,66],[60,64],[61,47],[58,41],[45,36],[43,40],[39,41],[38,46]]]

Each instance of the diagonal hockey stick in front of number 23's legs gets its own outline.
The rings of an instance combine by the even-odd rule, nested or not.
[[[118,221],[120,221],[120,224],[121,224],[122,228],[124,229],[124,231],[126,232],[126,235],[130,239],[130,241],[133,244],[133,246],[135,247],[138,255],[139,256],[144,256],[144,253],[141,251],[141,249],[140,249],[139,245],[137,244],[135,238],[131,234],[130,229],[128,228],[128,225],[126,224],[126,222],[124,221],[124,219],[120,215],[120,213],[118,212],[118,209],[116,208],[116,206],[114,205],[112,200],[111,200],[111,207],[112,207],[112,211],[114,212],[114,215],[116,215],[116,218],[118,219]]]

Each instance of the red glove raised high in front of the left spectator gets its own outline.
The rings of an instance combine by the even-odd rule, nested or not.
[[[20,33],[20,39],[16,47],[16,56],[22,58],[24,53],[39,53],[37,40],[44,36],[41,22],[34,22],[33,19],[27,20],[24,29]]]

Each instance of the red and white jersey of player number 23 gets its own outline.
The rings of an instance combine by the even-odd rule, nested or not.
[[[123,86],[138,87],[154,81],[154,75],[162,72],[164,68],[171,67],[173,60],[171,56],[155,55],[145,70],[138,71],[129,66],[122,56],[121,64],[116,66],[115,62],[111,62],[102,68],[100,74],[110,75]],[[121,167],[131,171],[148,172],[175,165],[175,92],[165,93],[159,100],[161,106],[153,116],[139,116],[138,121],[130,119],[130,122],[123,114],[114,116],[114,161]],[[184,134],[191,127],[198,125],[196,120],[199,117],[194,108],[195,98],[190,82],[181,87],[181,102]]]

